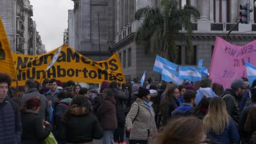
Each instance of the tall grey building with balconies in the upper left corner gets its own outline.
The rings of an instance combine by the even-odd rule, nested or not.
[[[2,18],[11,50],[16,53],[36,54],[36,29],[33,7],[29,0],[0,0]]]

